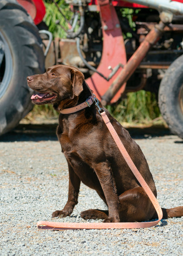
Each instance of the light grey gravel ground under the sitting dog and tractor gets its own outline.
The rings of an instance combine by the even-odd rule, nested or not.
[[[0,137],[0,255],[183,255],[183,217],[147,229],[38,230],[37,221],[51,221],[67,201],[67,163],[54,133],[55,126],[20,125]],[[183,141],[168,131],[131,133],[148,160],[160,205],[183,205]],[[84,185],[78,201],[71,217],[54,221],[81,222],[82,210],[105,209]]]

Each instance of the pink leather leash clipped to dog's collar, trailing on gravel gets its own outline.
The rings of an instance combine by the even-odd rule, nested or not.
[[[93,94],[94,95],[94,94]],[[120,140],[118,134],[116,133],[116,130],[113,128],[113,125],[110,123],[109,118],[107,117],[105,111],[103,108],[99,107],[99,101],[96,98],[96,96],[90,97],[90,99],[95,101],[95,105],[98,108],[99,114],[102,116],[102,119],[104,120],[108,130],[110,131],[110,134],[113,137],[113,140],[115,141],[117,147],[119,148],[119,151],[121,152],[122,156],[124,157],[126,163],[130,167],[131,171],[133,172],[134,176],[139,181],[142,188],[145,190],[146,194],[148,195],[149,199],[151,200],[152,204],[154,205],[154,208],[157,211],[158,220],[157,221],[148,221],[148,222],[115,222],[115,223],[85,223],[85,222],[53,222],[53,221],[39,221],[37,223],[38,229],[52,229],[52,230],[77,230],[77,229],[122,229],[122,228],[145,228],[145,227],[153,227],[159,223],[159,221],[163,218],[163,212],[162,209],[157,201],[157,198],[154,196],[153,192],[149,188],[148,184],[145,182],[142,175],[137,170],[137,167],[134,165],[133,161],[131,160],[131,157],[129,156],[128,152],[126,151],[122,141]],[[87,99],[88,101],[88,99]],[[86,102],[87,102],[86,101]],[[85,102],[84,102],[85,103]],[[82,103],[81,103],[82,104]],[[86,107],[90,107],[91,104],[86,104]],[[85,108],[86,108],[85,107]],[[76,111],[78,111],[78,107],[74,107]],[[74,110],[72,108],[72,111]],[[79,109],[80,110],[80,109]],[[74,111],[74,112],[76,112]],[[74,113],[72,112],[72,113]],[[69,109],[67,109],[67,113],[69,113]]]

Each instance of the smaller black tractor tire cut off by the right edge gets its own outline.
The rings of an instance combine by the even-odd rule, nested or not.
[[[183,139],[183,55],[166,71],[160,83],[158,102],[170,131]]]

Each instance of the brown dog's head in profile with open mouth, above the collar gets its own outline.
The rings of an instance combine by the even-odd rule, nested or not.
[[[73,99],[83,91],[84,75],[76,68],[65,65],[49,67],[44,74],[28,76],[28,86],[38,93],[32,95],[36,105],[59,104]]]

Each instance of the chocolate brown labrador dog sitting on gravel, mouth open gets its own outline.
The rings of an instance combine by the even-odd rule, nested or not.
[[[61,112],[57,137],[68,163],[69,194],[64,209],[53,212],[52,217],[70,216],[78,203],[82,181],[95,189],[108,206],[108,210],[81,212],[84,219],[133,222],[157,218],[151,201],[122,157],[96,105],[91,102],[87,104],[90,107],[80,109],[80,104],[92,96],[84,75],[75,67],[56,65],[49,67],[44,74],[28,76],[27,81],[29,87],[38,92],[31,97],[34,104],[52,103]],[[102,107],[101,103],[99,105]],[[78,110],[70,113],[70,108],[76,106]],[[153,177],[139,145],[105,111],[137,169],[157,196]],[[182,215],[183,207],[163,209],[163,218]]]

